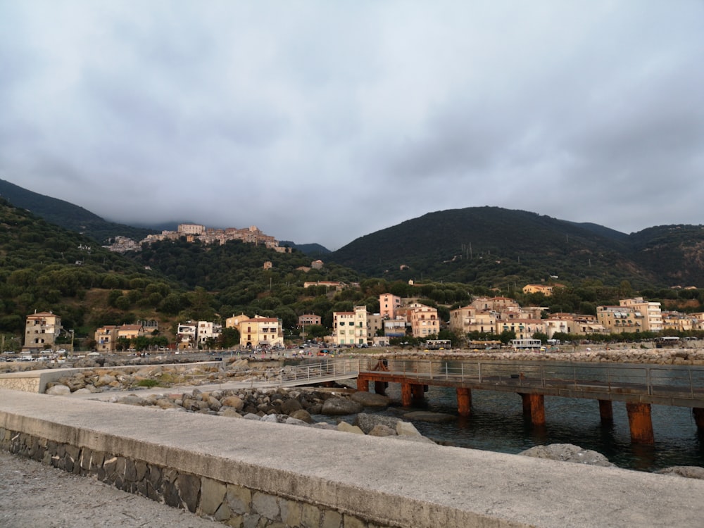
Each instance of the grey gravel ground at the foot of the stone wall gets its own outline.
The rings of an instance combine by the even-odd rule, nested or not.
[[[0,527],[214,528],[223,524],[0,451]]]

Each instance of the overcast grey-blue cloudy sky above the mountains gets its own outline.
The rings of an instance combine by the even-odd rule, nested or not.
[[[0,179],[328,249],[498,206],[704,223],[704,1],[0,0]]]

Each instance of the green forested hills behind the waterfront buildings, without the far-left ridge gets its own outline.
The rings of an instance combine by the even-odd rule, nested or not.
[[[0,333],[16,346],[27,314],[52,310],[84,346],[102,325],[158,320],[159,337],[172,339],[179,321],[223,322],[239,313],[280,318],[289,336],[298,334],[299,315],[315,313],[323,325],[307,331],[322,336],[334,311],[363,305],[378,313],[379,294],[387,292],[434,306],[445,321],[451,309],[480,295],[593,315],[596,306],[640,294],[665,310],[703,311],[704,289],[670,288],[704,283],[703,246],[696,226],[626,235],[524,211],[472,208],[408,220],[327,256],[184,239],[123,256],[1,200]],[[315,258],[324,261],[320,270],[310,265]],[[318,281],[347,287],[303,286]],[[523,294],[529,282],[564,287],[550,297]]]

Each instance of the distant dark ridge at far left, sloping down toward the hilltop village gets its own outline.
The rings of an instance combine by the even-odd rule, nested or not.
[[[157,232],[152,229],[108,222],[73,203],[28,191],[5,180],[0,180],[0,196],[14,206],[27,209],[44,218],[47,222],[84,234],[101,244],[118,235],[142,240],[146,235]]]

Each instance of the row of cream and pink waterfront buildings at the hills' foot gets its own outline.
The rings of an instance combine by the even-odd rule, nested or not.
[[[529,284],[526,291],[539,285]],[[548,292],[549,295],[549,292]],[[617,306],[598,306],[596,315],[575,313],[546,313],[541,306],[522,307],[512,298],[478,297],[467,306],[450,310],[450,319],[441,321],[437,308],[425,306],[414,298],[393,294],[379,296],[379,313],[369,313],[365,306],[353,311],[335,311],[333,327],[322,342],[334,346],[389,346],[392,339],[413,337],[422,342],[437,339],[447,329],[463,339],[454,346],[467,346],[467,337],[496,338],[509,334],[512,339],[534,339],[536,336],[553,339],[555,335],[593,336],[608,334],[639,334],[650,332],[704,331],[704,313],[663,312],[659,302],[644,301],[642,297],[624,298]],[[306,327],[320,326],[319,314],[298,317],[298,337],[305,339]],[[168,342],[171,350],[219,348],[222,330],[236,329],[239,348],[283,348],[284,328],[279,318],[244,313],[232,315],[221,322],[183,321],[177,325],[175,337]],[[129,350],[139,339],[159,334],[156,321],[141,321],[130,325],[106,325],[96,329],[94,348],[99,353]],[[61,325],[61,317],[51,312],[27,316],[25,351],[55,351],[58,338],[70,334],[73,349],[73,330]],[[148,341],[147,341],[148,342]]]

